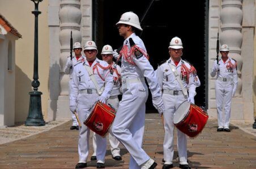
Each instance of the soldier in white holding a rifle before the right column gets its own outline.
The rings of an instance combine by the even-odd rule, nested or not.
[[[211,76],[215,77],[217,73],[217,79],[215,81],[217,118],[219,126],[217,131],[230,132],[229,121],[231,117],[231,99],[232,96],[236,94],[237,88],[237,63],[236,60],[228,57],[228,52],[228,45],[222,45],[220,47],[221,59],[219,59],[218,64],[217,60],[214,61]]]

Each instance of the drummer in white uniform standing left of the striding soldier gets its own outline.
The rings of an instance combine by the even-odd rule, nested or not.
[[[78,116],[81,122],[86,120],[89,113],[91,113],[89,109],[92,108],[97,100],[106,103],[113,87],[113,75],[109,73],[109,64],[97,59],[97,52],[95,42],[87,41],[84,46],[86,60],[74,66],[70,92],[70,110],[74,112],[76,108],[78,109]],[[86,66],[93,72],[96,82],[93,81],[92,76],[89,76]],[[100,93],[97,92],[95,83],[101,88]],[[105,86],[104,90],[103,86]],[[75,168],[87,167],[89,134],[89,128],[83,124],[79,129],[79,162]],[[105,168],[106,139],[96,134],[96,144],[97,168]]]

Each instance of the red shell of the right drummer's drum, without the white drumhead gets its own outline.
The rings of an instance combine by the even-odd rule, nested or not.
[[[202,132],[203,127],[208,120],[208,114],[199,106],[190,104],[189,112],[187,112],[181,122],[174,125],[189,137],[195,137]]]

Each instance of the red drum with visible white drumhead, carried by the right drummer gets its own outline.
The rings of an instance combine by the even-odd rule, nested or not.
[[[208,114],[199,106],[184,101],[174,113],[173,123],[178,130],[190,137],[197,136],[206,125]]]

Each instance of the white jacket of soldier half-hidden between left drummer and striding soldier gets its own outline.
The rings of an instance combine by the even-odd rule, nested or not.
[[[114,64],[112,64],[112,68],[114,68]],[[117,71],[117,72],[116,72]],[[113,71],[113,90],[110,96],[117,96],[121,94],[121,68],[119,65],[116,65],[116,70]]]

